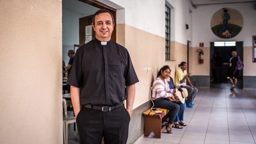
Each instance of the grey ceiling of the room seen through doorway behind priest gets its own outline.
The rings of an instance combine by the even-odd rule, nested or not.
[[[81,2],[79,0],[62,0],[62,9],[79,13],[84,16],[93,15],[99,10],[99,8]]]

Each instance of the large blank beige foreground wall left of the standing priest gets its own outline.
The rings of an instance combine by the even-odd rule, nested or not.
[[[0,3],[0,143],[62,143],[61,1]]]

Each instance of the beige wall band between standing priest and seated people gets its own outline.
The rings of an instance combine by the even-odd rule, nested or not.
[[[164,65],[169,65],[173,70],[171,76],[174,78],[175,70],[181,61],[187,60],[187,46],[179,42],[173,42],[175,47],[175,59],[165,61],[165,38],[158,35],[134,28],[126,24],[118,25],[119,28],[125,26],[125,44],[131,56],[134,69],[139,78],[136,84],[136,97],[133,109],[150,100],[150,88],[154,81],[152,70],[146,71],[146,67],[152,68],[154,75]],[[122,29],[118,29],[122,31]],[[117,32],[117,38],[122,33]],[[123,41],[117,39],[122,45]]]

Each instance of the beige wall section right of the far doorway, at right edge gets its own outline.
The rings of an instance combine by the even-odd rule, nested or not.
[[[256,63],[253,62],[252,51],[253,48],[251,46],[245,46],[243,49],[244,76],[256,76]]]

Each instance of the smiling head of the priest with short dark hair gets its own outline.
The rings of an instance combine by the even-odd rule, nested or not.
[[[99,41],[107,42],[111,39],[111,34],[114,29],[114,23],[112,21],[112,17],[109,13],[100,13],[95,16],[95,25],[93,29],[96,33],[95,37]]]

